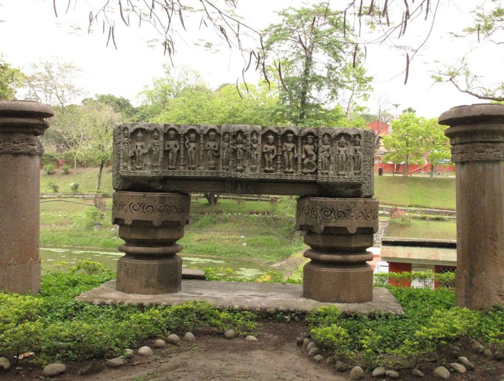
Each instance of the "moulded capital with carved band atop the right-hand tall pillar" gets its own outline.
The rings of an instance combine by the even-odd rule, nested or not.
[[[439,116],[449,125],[452,161],[504,160],[504,105],[483,103],[453,107]]]

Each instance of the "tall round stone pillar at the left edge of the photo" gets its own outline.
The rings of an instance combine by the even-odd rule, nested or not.
[[[0,289],[40,291],[40,156],[52,109],[0,101]]]

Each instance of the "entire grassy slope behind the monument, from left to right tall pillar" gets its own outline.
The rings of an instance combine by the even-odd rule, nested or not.
[[[59,184],[60,192],[70,192],[72,182],[80,184],[80,191],[93,191],[97,173],[97,168],[79,169],[76,176],[72,173],[64,175],[60,171],[48,176],[41,172],[41,189],[42,192],[50,189],[48,183],[54,181]],[[375,176],[374,180],[375,197],[382,204],[455,209],[453,178],[430,180],[428,177]],[[102,181],[102,190],[112,193],[111,174],[107,169]],[[68,201],[92,205],[91,200]],[[109,208],[110,204],[111,199],[108,199]],[[200,255],[218,253],[219,256],[267,261],[287,258],[303,247],[302,240],[293,235],[295,207],[295,198],[280,198],[275,205],[219,200],[217,205],[209,206],[204,199],[193,201],[192,221],[180,243],[184,245],[184,252]],[[86,215],[86,208],[86,205],[62,201],[42,203],[41,244],[117,248],[122,240],[117,229],[111,226],[110,212],[95,221]],[[268,216],[251,216],[257,213],[267,213]],[[95,231],[95,222],[101,222],[103,228]],[[410,225],[393,223],[388,235],[455,239],[455,223],[416,220]]]

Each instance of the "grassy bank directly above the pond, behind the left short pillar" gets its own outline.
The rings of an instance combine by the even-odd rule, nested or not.
[[[304,247],[302,239],[294,237],[294,201],[286,198],[276,205],[221,201],[212,207],[205,205],[206,201],[193,201],[191,224],[185,227],[184,237],[178,241],[184,246],[184,253],[276,262]],[[108,208],[111,202],[106,200]],[[107,210],[102,218],[93,218],[86,212],[94,208],[92,205],[92,200],[42,200],[40,244],[116,249],[123,241],[111,224],[111,212]],[[239,212],[231,214],[233,210]],[[290,217],[285,216],[286,210],[290,211]],[[270,214],[250,215],[261,211]],[[102,224],[99,230],[94,229],[97,222]]]

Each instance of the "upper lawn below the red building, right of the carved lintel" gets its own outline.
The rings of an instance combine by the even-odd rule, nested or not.
[[[455,178],[374,176],[374,197],[382,205],[455,210]]]

